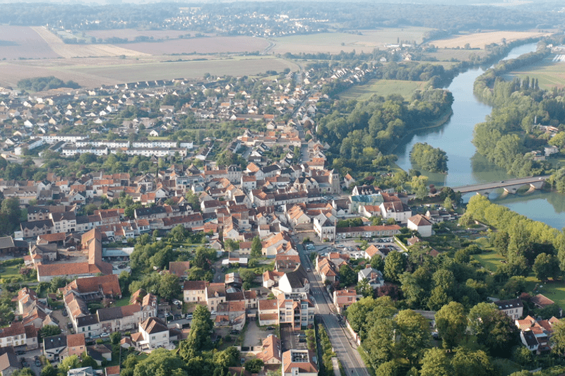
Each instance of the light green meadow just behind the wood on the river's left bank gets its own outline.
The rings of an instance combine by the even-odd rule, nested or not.
[[[412,97],[415,90],[422,90],[427,83],[424,81],[403,80],[370,80],[365,85],[355,85],[340,94],[342,99],[369,99],[371,95],[387,97],[391,94],[402,95],[405,98]]]

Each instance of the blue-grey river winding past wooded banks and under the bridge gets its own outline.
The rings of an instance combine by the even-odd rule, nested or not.
[[[535,51],[536,44],[524,44],[512,49],[504,59],[514,59],[522,54]],[[472,93],[475,79],[482,75],[481,68],[471,69],[453,79],[447,87],[453,93],[453,115],[443,125],[437,128],[425,129],[405,138],[398,145],[394,154],[398,155],[396,162],[405,171],[412,169],[410,150],[416,142],[427,142],[433,147],[439,147],[447,153],[448,174],[433,174],[429,183],[436,186],[465,186],[472,183],[508,180],[511,178],[506,171],[489,163],[482,155],[477,154],[472,145],[472,132],[475,124],[484,121],[492,108],[482,104]],[[492,193],[489,198],[500,205],[523,214],[536,221],[545,222],[549,226],[561,229],[565,226],[565,196],[559,193],[542,193],[535,191],[528,195],[507,195],[500,197],[502,190]],[[470,195],[464,199],[468,200]]]

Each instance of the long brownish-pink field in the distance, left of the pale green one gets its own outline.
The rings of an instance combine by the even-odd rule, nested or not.
[[[151,55],[218,54],[263,51],[269,43],[256,37],[203,37],[162,42],[116,44],[132,51]]]

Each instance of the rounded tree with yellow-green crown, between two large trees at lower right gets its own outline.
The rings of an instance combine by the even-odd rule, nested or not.
[[[444,348],[451,350],[458,346],[467,328],[467,316],[463,305],[456,302],[448,303],[436,312],[435,318]]]

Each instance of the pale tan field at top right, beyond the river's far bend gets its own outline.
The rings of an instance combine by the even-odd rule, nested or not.
[[[465,44],[470,44],[471,48],[484,49],[486,44],[501,43],[502,40],[512,42],[514,40],[525,40],[532,37],[542,37],[551,35],[549,32],[512,32],[512,31],[493,31],[493,32],[477,32],[475,34],[458,35],[443,40],[432,40],[429,44],[433,44],[438,48],[463,48]]]

